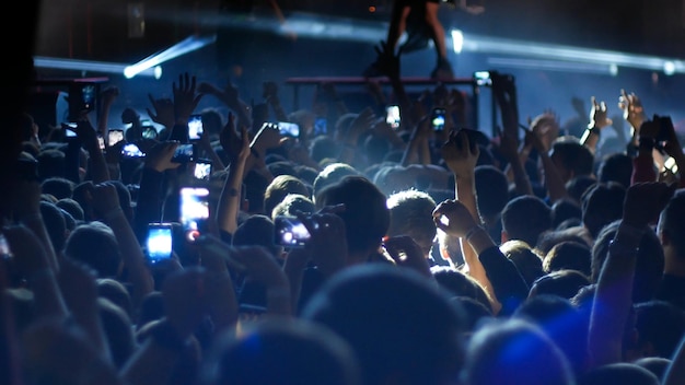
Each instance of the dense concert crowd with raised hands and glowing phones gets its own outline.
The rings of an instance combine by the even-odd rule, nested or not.
[[[186,72],[126,106],[112,142],[115,86],[71,126],[23,114],[0,202],[0,382],[682,383],[670,118],[617,90],[589,95],[580,125],[549,106],[525,121],[526,84],[492,72],[501,127],[485,135],[462,91],[407,92],[388,47],[392,89],[370,80],[360,109],[333,84],[288,110],[278,80],[248,104]]]

